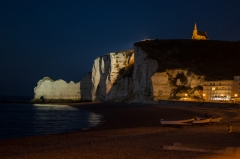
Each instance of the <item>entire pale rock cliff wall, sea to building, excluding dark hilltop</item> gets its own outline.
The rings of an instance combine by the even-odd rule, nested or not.
[[[92,72],[78,83],[45,77],[34,88],[35,99],[152,102],[186,94],[202,97],[204,76],[186,68],[159,71],[162,64],[148,55],[135,46],[134,50],[100,56],[94,60]]]

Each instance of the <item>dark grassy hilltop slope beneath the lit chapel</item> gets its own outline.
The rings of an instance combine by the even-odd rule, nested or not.
[[[158,71],[188,68],[210,79],[240,75],[240,41],[151,40],[136,42],[134,46],[157,60]]]

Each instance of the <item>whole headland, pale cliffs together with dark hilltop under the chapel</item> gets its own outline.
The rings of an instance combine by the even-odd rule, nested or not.
[[[35,98],[117,102],[152,102],[186,96],[201,99],[204,80],[229,79],[240,74],[238,50],[239,42],[137,42],[134,50],[97,57],[92,72],[78,83],[40,80],[34,89]]]

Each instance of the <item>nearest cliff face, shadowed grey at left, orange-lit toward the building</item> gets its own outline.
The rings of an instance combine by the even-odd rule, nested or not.
[[[191,98],[202,98],[202,82],[205,76],[196,75],[186,68],[158,71],[163,63],[157,61],[158,58],[148,58],[148,54],[149,52],[143,51],[141,47],[136,46],[134,49],[133,101],[180,99],[185,94]]]

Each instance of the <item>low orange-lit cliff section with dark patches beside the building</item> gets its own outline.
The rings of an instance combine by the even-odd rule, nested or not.
[[[202,98],[202,83],[205,77],[196,75],[187,69],[156,72],[151,80],[153,99]]]

